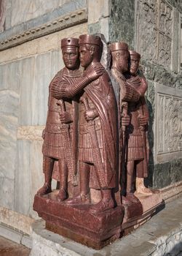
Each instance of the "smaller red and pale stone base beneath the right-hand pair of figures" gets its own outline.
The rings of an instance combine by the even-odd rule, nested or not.
[[[164,205],[160,192],[154,192],[152,195],[143,195],[135,192],[135,197],[138,197],[138,203],[124,206],[124,219],[122,222],[124,235],[143,225]]]

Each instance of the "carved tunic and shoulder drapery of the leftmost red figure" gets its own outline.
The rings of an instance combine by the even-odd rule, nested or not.
[[[80,78],[81,72],[79,70],[68,70],[66,68],[60,70],[55,78],[52,79],[50,83],[50,91],[51,87],[54,83],[62,83],[63,86],[71,85],[76,83],[76,80]],[[69,133],[71,137],[71,144],[76,141],[76,101],[72,101],[71,99],[67,99],[64,101],[66,111],[71,113],[72,123],[69,124]],[[50,92],[49,102],[48,102],[48,112],[47,112],[47,123],[45,128],[44,135],[44,143],[42,146],[42,153],[46,157],[52,157],[55,159],[65,159],[65,150],[63,145],[63,124],[60,121],[60,105],[58,105],[58,99],[52,97]],[[74,145],[73,145],[73,148]]]

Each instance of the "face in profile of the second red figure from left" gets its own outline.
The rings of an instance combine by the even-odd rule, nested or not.
[[[94,46],[92,45],[80,45],[79,47],[79,59],[82,67],[86,68],[93,60]]]

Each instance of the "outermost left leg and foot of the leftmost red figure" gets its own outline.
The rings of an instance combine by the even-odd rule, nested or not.
[[[43,187],[37,191],[37,195],[46,195],[52,192],[51,181],[52,181],[52,171],[54,167],[55,160],[50,157],[44,157],[44,178],[45,182]]]

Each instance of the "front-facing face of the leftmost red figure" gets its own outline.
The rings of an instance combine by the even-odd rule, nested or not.
[[[77,47],[64,47],[62,49],[63,61],[68,69],[79,67],[79,49]]]

